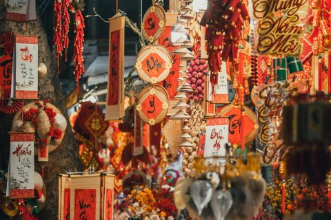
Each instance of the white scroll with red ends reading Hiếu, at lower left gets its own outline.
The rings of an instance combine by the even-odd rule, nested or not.
[[[7,196],[34,198],[34,133],[10,133]]]

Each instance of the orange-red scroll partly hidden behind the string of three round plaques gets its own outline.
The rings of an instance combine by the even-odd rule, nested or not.
[[[178,47],[173,44],[171,39],[172,27],[177,23],[177,15],[178,13],[175,12],[165,13],[165,30],[159,38],[159,45],[163,45],[163,47],[167,48],[170,53]],[[172,109],[172,107],[174,107],[174,105],[178,102],[178,100],[174,99],[174,96],[177,94],[177,78],[179,78],[179,65],[181,64],[180,58],[181,57],[179,54],[172,54],[172,67],[170,69],[170,74],[167,78],[165,78],[165,80],[159,83],[159,85],[163,85],[163,87],[165,87],[169,94],[170,107],[168,116],[176,113],[176,109]]]

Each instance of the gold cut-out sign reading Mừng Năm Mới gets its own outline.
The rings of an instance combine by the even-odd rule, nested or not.
[[[257,52],[268,55],[299,56],[308,0],[252,0],[257,19]]]

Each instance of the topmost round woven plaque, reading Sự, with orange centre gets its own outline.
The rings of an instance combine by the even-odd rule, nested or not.
[[[163,34],[165,29],[165,11],[160,5],[152,5],[143,15],[141,30],[143,37],[154,43]]]

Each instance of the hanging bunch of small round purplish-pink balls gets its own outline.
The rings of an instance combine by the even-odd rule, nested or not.
[[[190,61],[187,74],[187,82],[193,89],[192,94],[188,95],[188,98],[194,100],[194,102],[203,100],[203,94],[205,92],[205,74],[208,74],[208,63],[195,55],[194,59]]]

